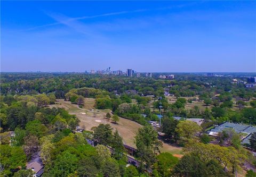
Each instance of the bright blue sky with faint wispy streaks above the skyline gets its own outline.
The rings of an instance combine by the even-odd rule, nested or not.
[[[256,72],[255,1],[1,1],[1,71]]]

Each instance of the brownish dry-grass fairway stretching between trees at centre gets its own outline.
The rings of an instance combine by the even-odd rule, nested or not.
[[[80,127],[85,128],[85,130],[91,131],[91,128],[97,127],[99,124],[110,124],[113,127],[113,130],[118,130],[119,134],[123,137],[123,141],[126,145],[132,146],[135,148],[134,137],[138,129],[142,125],[123,119],[120,117],[120,120],[117,124],[111,123],[106,119],[106,113],[111,113],[110,109],[95,109],[95,99],[94,98],[84,98],[83,108],[79,108],[71,102],[67,102],[64,99],[60,99],[57,104],[49,105],[49,107],[61,107],[66,109],[70,114],[74,114],[78,117],[80,122]],[[175,147],[169,144],[163,144],[163,147],[160,149],[161,152],[169,152],[172,154],[182,154],[181,147]]]

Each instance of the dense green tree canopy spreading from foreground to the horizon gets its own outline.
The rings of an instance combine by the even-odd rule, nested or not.
[[[219,133],[215,144],[205,134],[207,128],[225,121],[256,125],[256,89],[231,83],[233,76],[180,74],[176,78],[1,73],[1,175],[32,176],[26,162],[38,151],[43,176],[234,176],[245,163],[256,165],[235,131]],[[170,102],[165,92],[175,101]],[[109,124],[79,133],[75,115],[49,107],[58,99],[83,107],[84,98],[94,98],[96,109],[110,109],[113,116],[107,113],[106,117],[114,123],[123,117],[143,125],[134,137],[134,158],[139,166],[126,166],[123,139]],[[186,107],[195,102],[204,109]],[[160,113],[162,127],[156,130],[148,121],[158,121]],[[204,122],[198,125],[173,116],[197,117]],[[10,136],[12,131],[15,136]],[[157,131],[164,133],[164,141],[183,147],[182,158],[159,150],[162,140]],[[97,146],[87,140],[94,140]],[[256,150],[256,133],[250,144]],[[247,176],[255,176],[255,172],[248,171]]]

